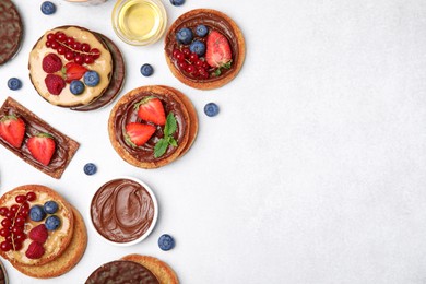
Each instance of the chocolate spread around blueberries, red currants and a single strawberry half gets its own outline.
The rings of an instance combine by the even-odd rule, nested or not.
[[[213,82],[213,81],[221,80],[223,76],[226,76],[227,73],[230,73],[234,70],[234,68],[235,68],[234,63],[230,66],[230,69],[221,69],[222,74],[218,76],[210,76],[209,79],[199,79],[199,78],[191,78],[191,76],[186,75],[186,73],[181,72],[180,69],[178,68],[177,60],[173,59],[173,50],[179,49],[179,44],[176,42],[176,33],[180,28],[184,28],[184,27],[190,28],[193,33],[194,38],[197,38],[205,44],[206,37],[203,37],[203,38],[198,37],[194,33],[196,27],[199,24],[205,25],[209,28],[209,31],[215,29],[215,31],[220,32],[221,34],[223,34],[229,43],[230,50],[233,54],[233,62],[238,62],[238,57],[239,57],[238,40],[237,40],[237,35],[236,35],[233,26],[225,19],[223,19],[222,16],[220,16],[217,14],[210,13],[210,12],[201,12],[201,11],[198,13],[194,13],[190,16],[188,16],[187,14],[184,14],[181,17],[176,20],[174,28],[167,33],[167,37],[165,39],[166,55],[169,58],[171,58],[171,61],[174,62],[176,70],[179,70],[179,72],[182,75],[185,75],[187,79],[189,79],[191,81]]]

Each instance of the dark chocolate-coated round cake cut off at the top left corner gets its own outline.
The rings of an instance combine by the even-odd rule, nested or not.
[[[23,26],[20,13],[11,0],[0,1],[0,66],[20,49]]]

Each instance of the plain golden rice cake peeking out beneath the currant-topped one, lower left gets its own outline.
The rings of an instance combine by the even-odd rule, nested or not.
[[[50,279],[69,272],[79,263],[87,247],[87,230],[80,212],[75,208],[71,208],[74,216],[74,230],[71,242],[62,255],[42,265],[12,263],[16,270],[32,277]]]

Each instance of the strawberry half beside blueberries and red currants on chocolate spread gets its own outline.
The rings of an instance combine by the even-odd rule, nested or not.
[[[229,42],[217,31],[212,31],[206,40],[205,61],[211,67],[221,68],[229,64],[233,55]]]

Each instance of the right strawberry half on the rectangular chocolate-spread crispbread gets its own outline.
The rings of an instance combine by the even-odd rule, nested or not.
[[[49,165],[51,156],[55,153],[56,144],[54,137],[47,133],[40,133],[28,139],[26,143],[29,153],[43,165]]]

